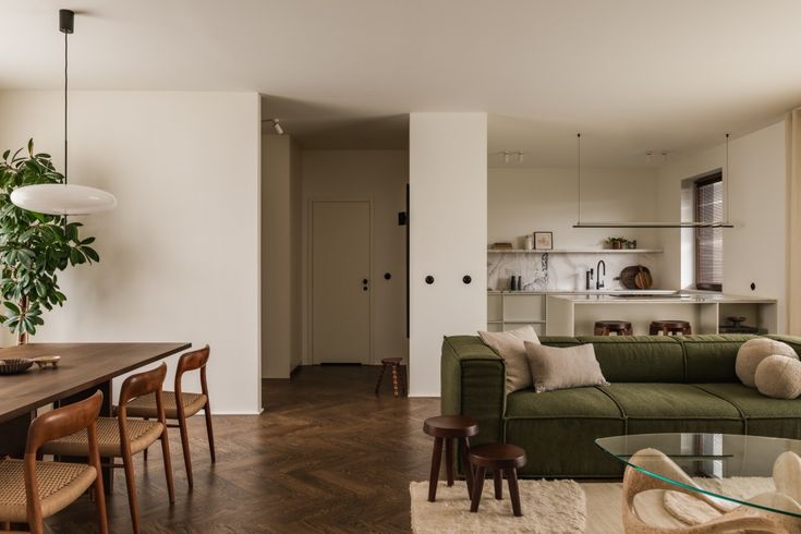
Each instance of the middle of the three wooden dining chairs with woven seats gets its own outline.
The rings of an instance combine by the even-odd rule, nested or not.
[[[131,509],[133,531],[139,532],[139,507],[136,498],[136,480],[133,469],[133,454],[142,452],[157,440],[161,441],[161,452],[167,476],[167,491],[170,505],[175,502],[175,490],[172,484],[172,464],[170,462],[170,445],[165,422],[165,406],[161,387],[167,376],[167,364],[153,371],[137,373],[125,378],[120,389],[120,405],[117,417],[99,417],[97,420],[97,440],[101,457],[112,458],[108,468],[122,468],[125,471],[128,503]],[[154,395],[156,399],[156,421],[128,418],[128,404],[131,400],[145,395]],[[85,436],[73,434],[47,444],[43,450],[46,454],[86,456]],[[122,458],[122,464],[113,458]]]

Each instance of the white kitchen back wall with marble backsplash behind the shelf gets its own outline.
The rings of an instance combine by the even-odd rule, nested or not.
[[[657,173],[655,168],[582,169],[583,221],[644,221],[654,219]],[[578,220],[575,168],[490,168],[487,191],[488,244],[511,241],[522,248],[535,231],[554,233],[555,248],[603,248],[609,236],[636,240],[639,248],[656,248],[658,236],[650,229],[573,228]],[[541,256],[490,254],[490,289],[508,289],[510,276],[521,276],[527,290],[574,291],[585,289],[585,272],[605,263],[606,289],[622,289],[615,280],[623,267],[644,265],[654,287],[662,287],[659,254],[550,254],[547,272]],[[595,283],[595,282],[593,282]]]

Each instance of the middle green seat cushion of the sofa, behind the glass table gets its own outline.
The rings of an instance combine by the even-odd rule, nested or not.
[[[628,434],[742,432],[736,406],[689,384],[612,384],[599,389],[620,406]]]

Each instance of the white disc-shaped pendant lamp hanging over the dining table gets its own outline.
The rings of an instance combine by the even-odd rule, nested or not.
[[[59,10],[59,31],[64,34],[64,183],[25,185],[11,192],[11,202],[28,211],[47,215],[87,215],[106,211],[117,206],[117,198],[96,187],[73,185],[66,181],[66,104],[68,104],[68,47],[66,38],[75,31],[75,13]]]

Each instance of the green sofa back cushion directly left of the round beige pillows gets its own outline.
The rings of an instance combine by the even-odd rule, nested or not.
[[[748,335],[700,335],[677,336],[684,348],[687,376],[682,380],[695,383],[736,383],[740,381],[735,372],[737,351],[740,345],[754,336]]]

